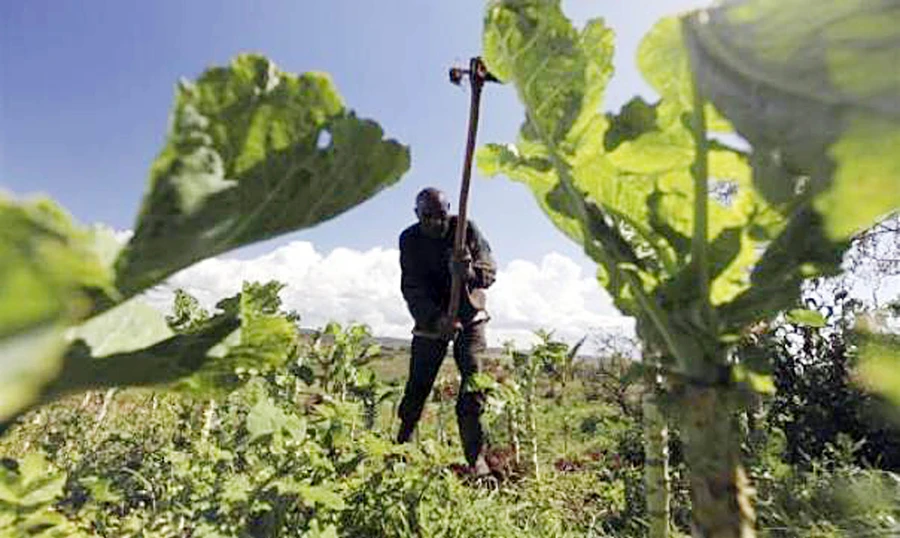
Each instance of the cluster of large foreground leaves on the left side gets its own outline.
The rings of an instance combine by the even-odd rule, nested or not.
[[[241,55],[179,84],[124,247],[104,228],[79,228],[51,201],[0,196],[0,421],[72,391],[203,370],[206,381],[186,382],[201,388],[236,365],[280,360],[290,329],[262,305],[234,303],[209,317],[180,296],[168,321],[181,334],[173,335],[161,315],[126,300],[194,262],[313,226],[396,182],[409,152],[382,135],[345,107],[326,75],[292,75]],[[238,324],[241,343],[211,352]],[[225,364],[207,364],[217,359]]]

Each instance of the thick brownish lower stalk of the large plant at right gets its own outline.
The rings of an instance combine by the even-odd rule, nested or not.
[[[741,465],[731,410],[719,390],[689,387],[685,393],[685,459],[698,538],[752,538],[753,494]]]

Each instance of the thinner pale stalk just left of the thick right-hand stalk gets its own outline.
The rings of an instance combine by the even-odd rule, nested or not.
[[[660,412],[656,375],[648,380],[641,406],[644,415],[644,488],[648,538],[668,538],[670,520],[669,427]]]

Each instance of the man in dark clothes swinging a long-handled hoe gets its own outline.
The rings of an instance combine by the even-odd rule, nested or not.
[[[484,329],[489,318],[484,290],[493,284],[497,268],[491,247],[471,221],[467,222],[463,260],[453,261],[457,217],[449,211],[450,202],[443,192],[424,189],[416,196],[419,222],[400,234],[400,287],[415,328],[397,441],[405,443],[412,436],[447,345],[453,340],[453,358],[462,377],[456,400],[459,433],[466,461],[475,474],[482,475],[489,472],[481,455],[484,397],[468,390],[468,383],[478,372],[479,354],[487,347]],[[453,273],[463,282],[455,320],[447,315]]]

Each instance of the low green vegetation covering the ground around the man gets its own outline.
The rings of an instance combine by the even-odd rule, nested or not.
[[[130,388],[65,397],[24,415],[0,440],[0,535],[646,535],[643,389],[627,362],[615,354],[568,362],[572,348],[548,332],[528,351],[508,348],[490,358],[479,383],[488,394],[494,474],[478,482],[460,463],[458,437],[448,426],[446,407],[459,390],[452,369],[435,385],[416,442],[394,445],[402,378],[373,380],[369,368],[391,371],[407,356],[382,355],[371,341],[355,340],[366,334],[364,326],[330,324],[303,335],[291,321],[296,314],[278,304],[280,288],[247,283],[236,299],[267,305],[272,319],[290,327],[296,338],[273,340],[270,348],[287,360],[235,368],[233,389],[212,402],[185,391]],[[191,298],[180,293],[177,302],[183,307]],[[204,318],[199,310],[194,315]],[[325,332],[333,338],[324,339]],[[779,342],[760,338],[746,342],[744,352]],[[321,357],[344,353],[348,342],[362,344],[353,356],[368,350],[367,361],[342,385],[334,361]],[[803,360],[824,368],[845,359],[817,353]],[[563,386],[558,367],[567,362]],[[858,458],[850,428],[821,445],[786,435],[785,412],[834,415],[843,405],[818,400],[786,411],[786,402],[815,394],[811,387],[787,388],[790,379],[776,378],[784,394],[761,403],[756,428],[742,430],[748,472],[760,488],[762,534],[896,530],[900,482]],[[533,413],[527,423],[525,402]],[[816,446],[824,449],[812,459],[785,463],[790,453],[813,453]],[[677,436],[668,448],[671,524],[686,533],[689,482]]]

